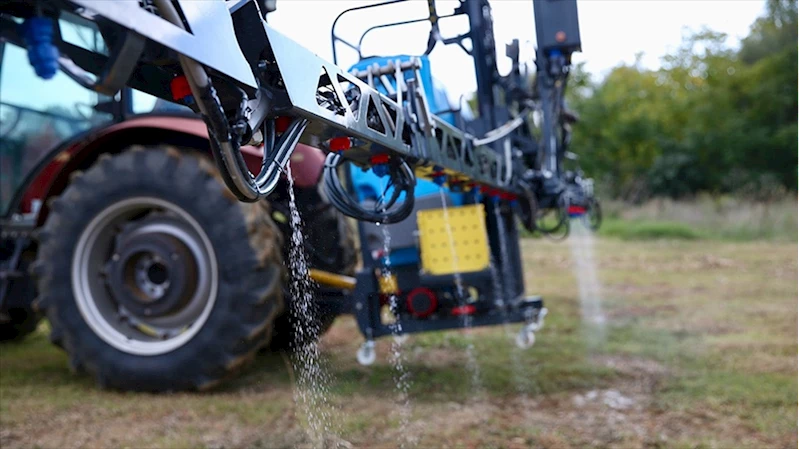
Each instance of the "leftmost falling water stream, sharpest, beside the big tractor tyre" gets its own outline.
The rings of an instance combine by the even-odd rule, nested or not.
[[[286,169],[291,212],[291,247],[289,271],[292,301],[290,313],[295,332],[294,371],[298,373],[295,402],[308,425],[308,436],[314,447],[325,447],[329,439],[336,439],[332,426],[332,407],[329,403],[332,378],[323,368],[317,335],[320,333],[318,307],[313,298],[308,262],[303,248],[302,219],[294,196],[294,178],[291,165]],[[303,344],[304,343],[304,344]]]

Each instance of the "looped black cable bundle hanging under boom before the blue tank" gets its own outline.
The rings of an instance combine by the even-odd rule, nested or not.
[[[330,202],[340,210],[341,213],[357,220],[372,223],[393,224],[408,218],[413,212],[414,196],[413,189],[416,187],[416,177],[410,166],[398,158],[389,160],[388,176],[390,181],[383,190],[381,198],[377,201],[375,208],[368,210],[357,201],[353,200],[349,192],[344,190],[338,176],[338,168],[344,162],[344,157],[339,153],[329,153],[325,158],[325,190],[330,198]],[[394,186],[394,192],[388,201],[384,202],[386,191]],[[405,200],[397,205],[397,200],[402,192],[405,192]],[[395,207],[396,206],[396,207]]]

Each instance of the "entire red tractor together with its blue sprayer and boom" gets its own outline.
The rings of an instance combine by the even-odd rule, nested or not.
[[[2,96],[23,79],[5,58],[25,55],[36,74],[26,82],[60,80],[88,98],[77,119],[0,104],[15,117],[4,118],[14,126],[0,133],[3,157],[42,154],[25,176],[12,170],[2,205],[4,335],[43,313],[74,369],[130,390],[208,388],[265,345],[307,343],[284,304],[290,169],[317,284],[313,334],[353,314],[358,360],[370,364],[374,340],[392,333],[393,296],[389,321],[404,334],[468,317],[524,323],[517,344],[531,346],[546,309],[525,296],[517,223],[565,236],[570,217],[593,227],[600,217],[592,181],[564,169],[576,159],[577,117],[564,105],[581,46],[576,1],[534,2],[534,66],[515,40],[506,76],[488,1],[447,14],[434,0],[409,3],[427,7],[421,18],[367,25],[357,44],[337,18],[331,63],[267,23],[274,2],[3,2]],[[469,30],[444,36],[453,17]],[[425,22],[422,54],[364,56],[370,32]],[[432,77],[438,45],[472,57],[476,114]],[[348,70],[336,65],[341,48],[358,56]],[[141,98],[152,100],[146,114]],[[41,148],[23,131],[46,130],[19,125],[24,114],[74,131]],[[357,220],[357,269],[343,216]]]

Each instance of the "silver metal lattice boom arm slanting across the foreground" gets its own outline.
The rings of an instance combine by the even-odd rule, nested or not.
[[[86,61],[85,50],[52,41],[57,48],[52,55],[60,56],[51,63],[74,79],[99,76],[85,84],[106,94],[133,84],[201,112],[216,141],[219,168],[243,201],[271,193],[297,141],[329,152],[330,141],[341,138],[350,140],[338,151],[358,165],[371,166],[375,155],[384,155],[404,161],[421,176],[446,174],[504,192],[516,190],[509,155],[475,144],[474,136],[432,115],[418,77],[408,81],[405,92],[388,98],[270,27],[254,1],[155,0],[150,8],[137,0],[26,3],[31,6],[26,19],[39,26],[25,36],[29,48],[32,40],[38,39],[40,47],[47,44],[40,37],[61,11],[97,22],[104,35],[116,40],[118,45],[109,46],[111,55],[92,54],[93,63]],[[156,55],[162,56],[158,65]],[[164,55],[171,55],[171,64],[164,64]],[[100,59],[105,64],[97,64]],[[398,64],[398,79],[402,69]],[[192,99],[163,88],[183,77]],[[283,145],[269,142],[276,133],[268,122],[278,117],[296,123]],[[252,175],[236,154],[238,146],[263,140],[273,145],[266,145],[263,171]]]

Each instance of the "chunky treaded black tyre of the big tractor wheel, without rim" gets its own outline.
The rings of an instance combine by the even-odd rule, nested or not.
[[[73,371],[88,372],[102,387],[132,391],[213,389],[252,361],[258,349],[268,343],[274,321],[283,312],[282,237],[271,220],[268,204],[259,202],[254,207],[239,203],[224,187],[221,176],[207,158],[188,149],[140,145],[114,156],[104,154],[85,173],[75,174],[64,193],[48,202],[51,213],[42,234],[63,237],[59,232],[63,231],[61,224],[80,223],[86,213],[81,206],[102,206],[101,197],[109,190],[108,186],[103,188],[103,184],[119,180],[135,185],[137,176],[158,188],[198,192],[204,208],[213,211],[208,214],[220,217],[207,227],[203,226],[212,242],[224,242],[214,245],[219,260],[219,294],[212,315],[218,316],[214,324],[218,335],[211,338],[210,331],[198,333],[186,346],[197,345],[203,349],[184,353],[181,360],[188,360],[188,363],[175,365],[179,363],[175,361],[171,370],[161,371],[160,375],[154,374],[157,370],[145,368],[131,371],[129,368],[134,365],[131,360],[135,356],[117,351],[96,337],[82,322],[72,300],[70,276],[64,273],[69,270],[63,268],[71,266],[72,247],[69,245],[77,239],[71,236],[68,239],[45,238],[39,251],[38,303],[50,321],[50,338],[69,354]],[[71,203],[70,207],[66,207],[65,199]],[[241,214],[235,213],[236,207],[241,207]],[[238,218],[232,218],[234,216]],[[64,228],[71,229],[71,225]],[[237,239],[239,231],[246,232],[248,238]],[[226,275],[226,272],[231,273],[225,268],[228,264],[236,270],[232,275]],[[64,288],[68,293],[64,294]],[[245,288],[247,291],[242,293]],[[222,300],[223,295],[228,298]],[[115,357],[119,363],[109,363]],[[169,359],[158,357],[161,361]],[[148,363],[151,362],[142,361],[142,365]],[[186,364],[191,366],[184,366]]]

